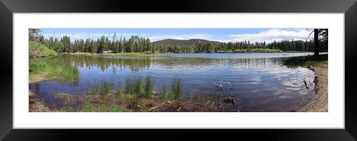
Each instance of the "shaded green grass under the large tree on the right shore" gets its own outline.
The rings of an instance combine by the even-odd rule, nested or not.
[[[314,68],[319,66],[322,63],[327,63],[329,57],[328,54],[319,55],[318,57],[307,55],[307,56],[299,56],[292,57],[287,59],[284,62],[286,66],[302,66],[306,68]]]

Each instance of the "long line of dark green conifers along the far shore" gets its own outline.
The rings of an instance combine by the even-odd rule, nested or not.
[[[39,31],[36,31],[39,32]],[[30,34],[29,34],[30,36]],[[108,39],[108,37],[100,37],[94,39],[75,39],[71,41],[69,36],[63,36],[62,38],[44,39],[43,36],[29,37],[30,41],[39,42],[48,47],[48,49],[55,51],[56,53],[75,53],[75,52],[88,52],[88,53],[103,53],[103,52],[146,52],[146,53],[215,53],[219,51],[234,51],[234,50],[251,50],[251,49],[273,49],[281,51],[314,51],[314,40],[282,40],[274,41],[271,43],[264,42],[228,42],[228,43],[216,43],[216,42],[203,42],[191,45],[180,44],[161,44],[152,43],[149,38],[143,38],[138,36],[131,36],[130,38],[116,37]],[[320,52],[327,51],[327,44],[320,46]]]

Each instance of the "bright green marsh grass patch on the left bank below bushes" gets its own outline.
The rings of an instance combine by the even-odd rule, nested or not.
[[[75,83],[79,80],[79,71],[70,64],[65,64],[56,59],[42,58],[29,60],[29,78],[44,74],[45,79],[61,82]]]

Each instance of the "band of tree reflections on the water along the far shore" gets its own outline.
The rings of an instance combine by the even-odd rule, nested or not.
[[[265,68],[271,66],[282,66],[280,58],[245,58],[245,59],[216,59],[216,58],[186,58],[186,57],[108,57],[108,56],[87,56],[87,55],[60,55],[59,61],[71,63],[75,67],[93,69],[100,68],[102,72],[109,67],[113,73],[117,69],[129,68],[132,71],[149,69],[152,64],[162,68],[185,68],[197,66],[218,66],[227,65],[228,67],[240,66],[243,68],[257,67]]]

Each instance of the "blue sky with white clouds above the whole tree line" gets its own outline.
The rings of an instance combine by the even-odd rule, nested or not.
[[[41,33],[45,38],[49,36],[61,38],[63,35],[73,39],[97,39],[100,36],[107,36],[112,39],[114,33],[117,39],[130,38],[133,34],[149,38],[152,42],[164,39],[204,39],[219,42],[273,42],[281,40],[312,40],[308,37],[311,30],[306,29],[94,29],[94,28],[43,28]]]

